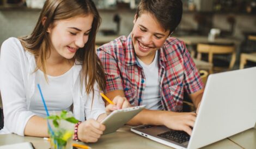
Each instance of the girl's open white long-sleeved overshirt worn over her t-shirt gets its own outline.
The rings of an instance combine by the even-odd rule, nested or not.
[[[105,113],[105,104],[99,94],[99,88],[95,83],[93,99],[92,93],[88,95],[84,85],[81,87],[80,71],[82,66],[75,64],[73,67],[74,116],[80,121],[84,121],[85,117],[96,120],[100,114]],[[28,110],[31,98],[37,89],[35,68],[34,55],[25,51],[19,39],[9,38],[3,42],[0,53],[0,90],[4,111],[4,128],[0,134],[16,133],[23,136],[27,121],[35,115]]]

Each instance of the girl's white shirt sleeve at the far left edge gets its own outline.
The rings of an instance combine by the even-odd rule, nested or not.
[[[23,48],[10,38],[3,42],[0,55],[0,90],[4,111],[4,127],[10,133],[24,135],[27,121],[35,114],[27,110],[22,73]],[[22,69],[23,68],[23,69]]]

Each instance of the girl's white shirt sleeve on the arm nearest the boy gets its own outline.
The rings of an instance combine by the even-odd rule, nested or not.
[[[99,88],[97,88],[97,84],[94,85],[94,97],[93,93],[91,92],[86,99],[85,105],[84,105],[85,113],[86,113],[86,119],[94,119],[97,120],[97,118],[103,114],[106,113],[105,110],[105,102],[102,100],[100,96]]]

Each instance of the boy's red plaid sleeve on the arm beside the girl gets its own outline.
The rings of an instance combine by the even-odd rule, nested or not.
[[[106,76],[106,92],[114,90],[123,90],[123,80],[120,76],[118,62],[111,52],[106,52],[109,49],[107,46],[102,46],[97,49]],[[113,49],[113,47],[112,47]]]

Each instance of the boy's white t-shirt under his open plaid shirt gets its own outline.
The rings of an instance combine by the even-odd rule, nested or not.
[[[138,58],[137,58],[138,59]],[[159,81],[159,67],[157,64],[157,52],[153,62],[146,65],[138,59],[139,64],[143,68],[145,74],[145,90],[142,99],[142,105],[150,110],[162,110],[161,95],[160,95],[160,81]]]

